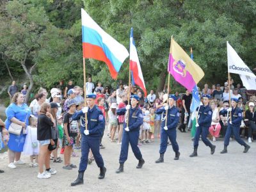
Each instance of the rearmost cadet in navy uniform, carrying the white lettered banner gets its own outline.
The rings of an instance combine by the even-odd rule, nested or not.
[[[235,140],[237,141],[237,143],[244,146],[244,153],[248,152],[250,148],[249,145],[247,145],[243,140],[241,140],[239,135],[240,125],[243,120],[243,115],[242,115],[241,109],[236,107],[238,102],[239,100],[236,98],[231,99],[232,108],[228,109],[228,114],[230,114],[230,111],[231,111],[232,118],[231,119],[228,118],[228,128],[225,134],[224,149],[220,152],[221,154],[226,154],[228,152],[227,147],[228,147],[229,139],[232,132],[235,136]]]

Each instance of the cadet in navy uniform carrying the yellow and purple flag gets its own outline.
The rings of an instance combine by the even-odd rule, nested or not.
[[[164,153],[167,148],[168,138],[172,143],[173,151],[175,152],[175,158],[174,160],[179,160],[180,152],[179,152],[179,145],[176,141],[177,133],[176,133],[176,127],[179,123],[179,110],[174,106],[175,101],[177,98],[175,95],[169,95],[169,106],[168,104],[164,104],[164,107],[157,109],[156,114],[162,114],[162,124],[161,124],[161,143],[160,143],[160,150],[159,154],[160,157],[157,159],[156,163],[163,163],[164,162]],[[167,113],[167,124],[166,122],[166,110],[168,110]]]

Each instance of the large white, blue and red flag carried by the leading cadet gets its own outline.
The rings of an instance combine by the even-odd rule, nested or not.
[[[108,65],[111,77],[116,79],[122,63],[129,56],[129,52],[124,45],[118,43],[100,28],[83,8],[81,9],[81,15],[83,58],[104,61]]]

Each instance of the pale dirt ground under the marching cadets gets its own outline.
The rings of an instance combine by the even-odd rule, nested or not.
[[[116,174],[120,145],[110,143],[104,136],[101,150],[106,178],[99,180],[99,168],[95,162],[88,165],[84,173],[84,184],[70,187],[70,182],[77,177],[77,168],[63,170],[62,163],[51,163],[58,173],[51,179],[37,179],[38,168],[29,168],[29,157],[22,156],[26,164],[11,170],[7,167],[7,154],[0,154],[1,191],[255,191],[256,186],[256,141],[250,144],[247,154],[236,141],[231,141],[228,154],[220,154],[223,140],[216,141],[216,153],[200,141],[198,157],[191,158],[193,142],[190,132],[178,131],[177,141],[180,147],[180,160],[174,161],[172,146],[167,148],[164,163],[156,164],[159,154],[159,140],[140,147],[146,163],[141,170],[136,169],[138,161],[129,148],[128,160],[124,173]],[[76,150],[79,156],[80,150]],[[60,155],[63,158],[63,155]],[[72,157],[72,163],[79,166],[79,157]]]

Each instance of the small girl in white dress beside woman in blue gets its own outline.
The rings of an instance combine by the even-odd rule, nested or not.
[[[23,154],[30,156],[30,167],[38,166],[39,143],[37,141],[37,118],[30,116],[29,126],[26,128],[26,140],[23,147]],[[35,163],[33,159],[35,157]]]

